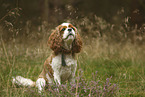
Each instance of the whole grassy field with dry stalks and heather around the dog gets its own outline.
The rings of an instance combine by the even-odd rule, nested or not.
[[[138,42],[138,36],[133,34],[134,30],[138,30],[134,28],[130,31],[133,37],[137,37],[136,40],[130,36],[132,34],[124,38],[127,31],[123,28],[117,28],[118,32],[114,33],[117,30],[111,28],[112,25],[95,18],[99,24],[95,25],[86,18],[74,22],[80,28],[83,39],[83,50],[77,56],[76,84],[66,83],[51,88],[48,86],[43,94],[35,92],[35,88],[15,86],[11,81],[12,76],[17,75],[37,79],[45,59],[51,53],[47,46],[50,33],[43,30],[46,25],[42,24],[42,30],[32,31],[28,37],[13,37],[8,42],[1,37],[0,96],[143,97],[145,45]],[[53,28],[47,29],[50,31]],[[144,39],[144,36],[141,38]]]

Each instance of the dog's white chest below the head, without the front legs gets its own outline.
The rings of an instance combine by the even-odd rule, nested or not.
[[[66,80],[70,75],[73,74],[76,68],[77,61],[72,57],[72,55],[65,55],[66,66],[62,66],[61,54],[55,56],[52,59],[52,69],[54,73],[58,73],[62,80]]]

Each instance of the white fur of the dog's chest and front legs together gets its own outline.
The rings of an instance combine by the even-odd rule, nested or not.
[[[61,54],[54,57],[51,63],[54,71],[54,81],[59,85],[66,80],[72,81],[77,67],[77,61],[72,55],[66,55],[65,57],[66,66],[62,66],[61,64]]]

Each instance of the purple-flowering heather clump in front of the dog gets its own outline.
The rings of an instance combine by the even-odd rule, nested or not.
[[[82,70],[79,70],[78,72],[83,72]],[[46,94],[48,96],[65,96],[65,97],[74,97],[74,96],[98,96],[98,97],[112,97],[115,96],[118,88],[116,84],[111,84],[110,79],[107,78],[106,82],[102,83],[100,85],[100,81],[96,80],[96,74],[93,74],[93,80],[92,81],[86,81],[83,76],[80,74],[76,78],[76,83],[66,83],[61,86],[49,86],[48,91],[46,90]]]

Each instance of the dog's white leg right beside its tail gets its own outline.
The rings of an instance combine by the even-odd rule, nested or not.
[[[46,85],[46,81],[44,78],[38,78],[36,81],[36,87],[38,88],[38,92],[41,93]]]

